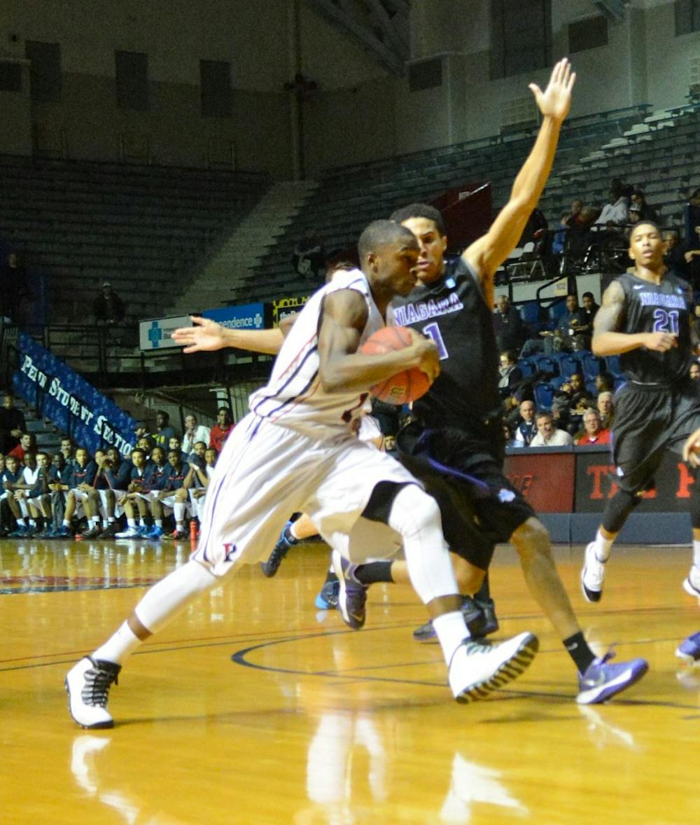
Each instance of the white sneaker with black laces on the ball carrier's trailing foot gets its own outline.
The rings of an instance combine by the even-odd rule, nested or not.
[[[107,697],[120,670],[121,665],[115,662],[86,656],[66,674],[68,711],[82,728],[114,728],[114,719],[107,713]]]

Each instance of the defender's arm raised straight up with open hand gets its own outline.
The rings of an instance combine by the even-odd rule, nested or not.
[[[569,113],[571,89],[576,73],[564,58],[552,69],[544,92],[530,83],[543,121],[537,139],[522,169],[515,178],[510,200],[500,210],[491,229],[463,252],[464,260],[477,272],[486,304],[493,304],[493,276],[518,243],[530,214],[542,195],[552,169],[561,123]]]

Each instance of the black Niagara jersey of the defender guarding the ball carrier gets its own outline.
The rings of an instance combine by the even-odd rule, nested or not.
[[[442,371],[413,404],[425,425],[478,431],[482,422],[500,414],[491,309],[476,274],[461,257],[445,266],[439,281],[394,298],[392,308],[394,323],[422,332],[438,346]]]

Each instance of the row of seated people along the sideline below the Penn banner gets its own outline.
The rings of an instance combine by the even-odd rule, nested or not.
[[[200,521],[209,479],[226,436],[228,408],[215,427],[185,418],[181,437],[158,411],[157,427],[137,432],[128,459],[110,447],[90,455],[63,437],[58,452],[38,450],[35,437],[15,431],[16,445],[0,454],[0,536],[44,539],[189,538]]]

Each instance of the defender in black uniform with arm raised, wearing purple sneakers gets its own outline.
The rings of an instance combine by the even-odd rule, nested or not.
[[[565,59],[552,70],[544,92],[531,84],[543,115],[533,149],[491,229],[456,262],[444,261],[447,238],[437,210],[414,204],[392,215],[420,245],[420,284],[392,305],[394,323],[431,337],[441,359],[439,378],[414,403],[416,423],[400,434],[398,446],[411,473],[439,502],[445,539],[461,559],[456,573],[463,592],[481,587],[496,542],[514,544],[530,592],[576,664],[577,701],[591,704],[634,684],[648,665],[643,659],[610,664],[611,653],[594,656],[561,584],[546,528],[505,479],[498,347],[491,318],[494,275],[518,243],[543,191],[575,78]],[[400,565],[392,565],[394,581],[403,580]]]

